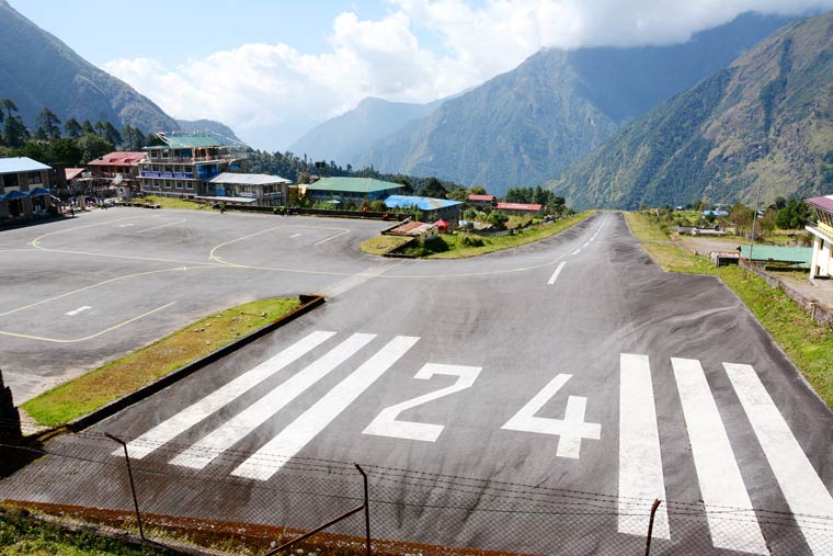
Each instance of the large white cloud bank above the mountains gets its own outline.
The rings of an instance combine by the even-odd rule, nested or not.
[[[244,44],[174,68],[136,58],[104,69],[175,117],[219,120],[255,147],[283,149],[365,97],[427,102],[507,71],[543,47],[667,44],[744,11],[833,8],[833,0],[389,1],[390,13],[379,20],[339,14],[320,55]],[[441,37],[442,52],[420,44],[426,31]]]

